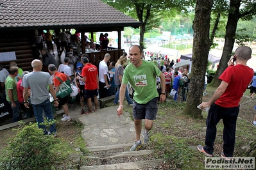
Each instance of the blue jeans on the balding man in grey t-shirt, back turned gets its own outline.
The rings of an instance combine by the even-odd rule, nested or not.
[[[40,123],[44,122],[43,112],[42,112],[43,109],[44,109],[44,113],[46,114],[47,120],[54,120],[53,110],[51,109],[51,102],[50,102],[49,98],[47,100],[45,100],[44,102],[42,102],[41,104],[36,104],[36,105],[32,104],[32,106],[33,106],[35,118],[37,119],[38,127],[44,129],[44,134],[48,134],[46,126],[40,125]],[[56,133],[55,123],[53,123],[49,127],[49,130],[50,130],[51,134]]]

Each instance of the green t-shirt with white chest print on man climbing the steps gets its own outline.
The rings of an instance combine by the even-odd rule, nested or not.
[[[132,85],[134,89],[133,99],[138,104],[146,104],[155,97],[157,93],[157,77],[161,71],[151,61],[142,60],[142,65],[135,67],[130,64],[124,69],[123,83]]]

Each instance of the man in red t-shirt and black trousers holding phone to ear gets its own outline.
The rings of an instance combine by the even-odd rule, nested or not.
[[[221,74],[221,84],[214,92],[209,102],[200,104],[201,109],[210,107],[207,116],[207,130],[205,146],[198,145],[198,150],[212,157],[214,141],[216,138],[216,125],[222,119],[223,128],[223,152],[221,157],[230,160],[235,148],[235,126],[239,113],[239,102],[248,84],[253,77],[253,69],[246,63],[252,58],[252,49],[242,46],[235,50],[235,56],[228,61],[228,68]],[[233,59],[236,59],[234,66]],[[234,93],[235,91],[235,93]]]

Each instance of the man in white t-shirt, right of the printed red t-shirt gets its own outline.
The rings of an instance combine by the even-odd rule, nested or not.
[[[105,54],[104,59],[99,63],[99,98],[107,97],[108,88],[110,88],[108,77],[108,65],[110,54]]]

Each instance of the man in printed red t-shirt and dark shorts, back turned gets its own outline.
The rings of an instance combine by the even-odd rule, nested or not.
[[[83,79],[83,82],[85,82],[85,98],[87,98],[89,109],[86,114],[89,114],[98,109],[99,75],[97,67],[89,63],[87,57],[81,58],[81,62],[83,63],[83,70],[81,71],[83,78],[80,79]],[[95,109],[92,109],[92,98],[94,99]]]

